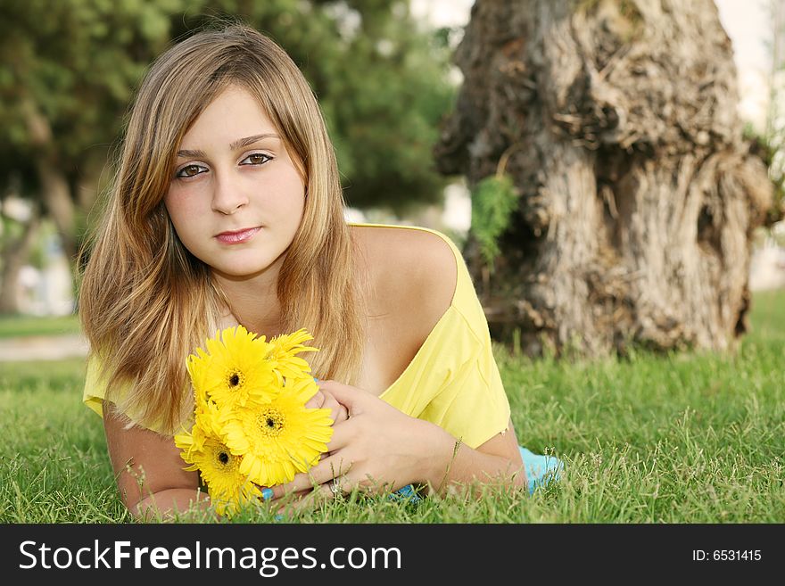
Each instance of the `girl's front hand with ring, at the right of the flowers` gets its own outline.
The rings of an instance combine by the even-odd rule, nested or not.
[[[273,499],[313,489],[308,499],[295,504],[299,508],[314,498],[332,499],[338,491],[396,491],[445,473],[455,440],[438,425],[409,417],[347,384],[324,381],[320,386],[325,396],[348,409],[349,417],[335,423],[329,455],[291,483],[273,487]]]

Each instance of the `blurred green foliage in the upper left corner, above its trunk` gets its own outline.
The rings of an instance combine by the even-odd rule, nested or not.
[[[186,5],[178,0],[5,3],[0,120],[10,138],[7,146],[35,153],[29,106],[50,123],[58,139],[53,148],[65,166],[78,163],[92,145],[111,142],[136,81],[169,40],[169,13]]]

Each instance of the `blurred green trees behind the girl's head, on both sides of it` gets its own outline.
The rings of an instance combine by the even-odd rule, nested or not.
[[[71,260],[145,68],[216,18],[269,34],[302,67],[352,206],[402,213],[441,200],[432,152],[454,94],[449,51],[406,2],[7,0],[3,12],[0,189],[21,182]],[[4,246],[4,257],[12,251]]]

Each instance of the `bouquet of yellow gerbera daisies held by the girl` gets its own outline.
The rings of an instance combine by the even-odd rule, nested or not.
[[[329,409],[308,409],[318,392],[300,352],[313,337],[301,329],[268,341],[229,327],[187,359],[194,424],[175,435],[180,456],[199,470],[219,515],[258,499],[260,487],[307,472],[333,435]]]

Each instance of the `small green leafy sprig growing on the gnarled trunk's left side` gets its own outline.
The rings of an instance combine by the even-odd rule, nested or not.
[[[472,189],[472,234],[489,267],[499,255],[499,237],[516,210],[518,192],[508,175],[485,177]]]

